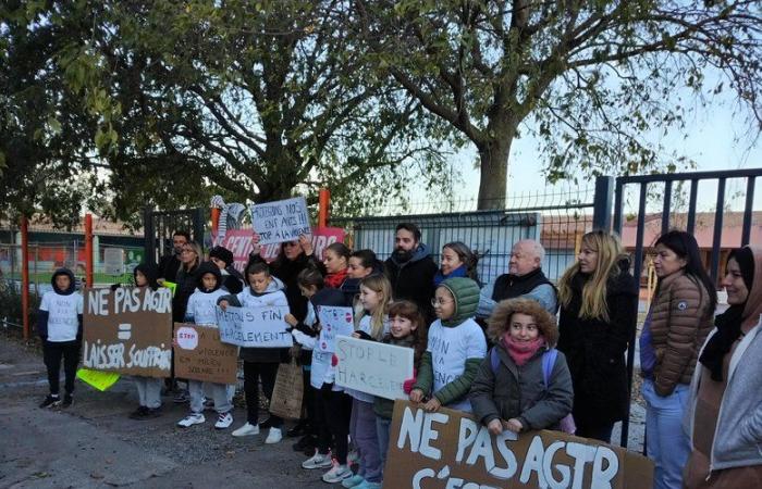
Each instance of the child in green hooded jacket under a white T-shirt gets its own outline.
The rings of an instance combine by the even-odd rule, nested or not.
[[[479,286],[470,278],[448,278],[437,288],[431,304],[438,319],[429,327],[429,346],[423,353],[410,401],[438,411],[442,405],[471,411],[468,391],[487,354],[487,341],[474,321]]]

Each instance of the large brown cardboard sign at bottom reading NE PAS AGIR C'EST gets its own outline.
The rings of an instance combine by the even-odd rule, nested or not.
[[[460,411],[396,401],[385,488],[650,488],[642,455],[561,431],[503,431]]]

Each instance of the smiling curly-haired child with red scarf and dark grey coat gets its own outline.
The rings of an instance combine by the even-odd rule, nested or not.
[[[477,419],[493,435],[503,429],[553,429],[572,412],[566,358],[555,351],[555,318],[532,299],[497,303],[488,319],[494,341],[471,387]]]

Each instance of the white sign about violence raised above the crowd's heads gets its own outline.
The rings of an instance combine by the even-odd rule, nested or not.
[[[251,227],[259,234],[259,243],[294,241],[311,234],[304,197],[253,204]]]

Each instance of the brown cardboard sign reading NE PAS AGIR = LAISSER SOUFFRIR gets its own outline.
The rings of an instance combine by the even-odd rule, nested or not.
[[[85,368],[169,377],[172,292],[167,288],[85,289],[82,363]]]

